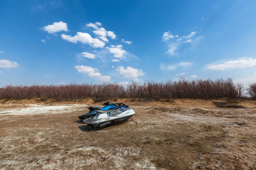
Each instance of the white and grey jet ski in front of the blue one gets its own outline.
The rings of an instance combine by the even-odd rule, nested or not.
[[[95,110],[96,115],[84,119],[83,123],[86,123],[89,129],[97,129],[123,123],[135,115],[135,112],[124,103],[115,103],[113,105],[117,107],[108,110]]]

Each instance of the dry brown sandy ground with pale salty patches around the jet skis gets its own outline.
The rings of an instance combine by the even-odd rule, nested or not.
[[[256,170],[256,101],[116,102],[139,124],[88,130],[88,101],[0,101],[0,169]]]

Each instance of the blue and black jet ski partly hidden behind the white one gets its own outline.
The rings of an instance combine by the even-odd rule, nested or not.
[[[83,123],[83,120],[91,118],[96,116],[97,114],[97,110],[109,110],[109,109],[115,109],[118,107],[118,105],[114,104],[114,103],[110,103],[110,102],[105,102],[102,105],[105,105],[104,107],[92,107],[90,106],[88,109],[89,111],[86,114],[83,114],[81,116],[78,116],[79,118],[79,122]]]

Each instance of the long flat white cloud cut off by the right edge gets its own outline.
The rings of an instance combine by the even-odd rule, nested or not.
[[[227,69],[235,69],[235,68],[247,68],[256,65],[256,59],[252,58],[243,58],[237,60],[226,61],[223,64],[210,64],[207,68],[210,70],[227,70]]]

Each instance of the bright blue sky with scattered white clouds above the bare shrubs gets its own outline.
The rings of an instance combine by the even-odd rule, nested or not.
[[[255,0],[0,0],[0,86],[256,81]]]

